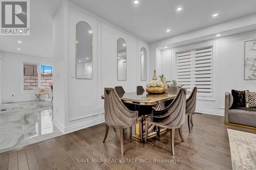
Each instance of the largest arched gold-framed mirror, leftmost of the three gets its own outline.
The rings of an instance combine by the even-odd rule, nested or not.
[[[84,21],[76,25],[76,79],[93,78],[93,31]]]

